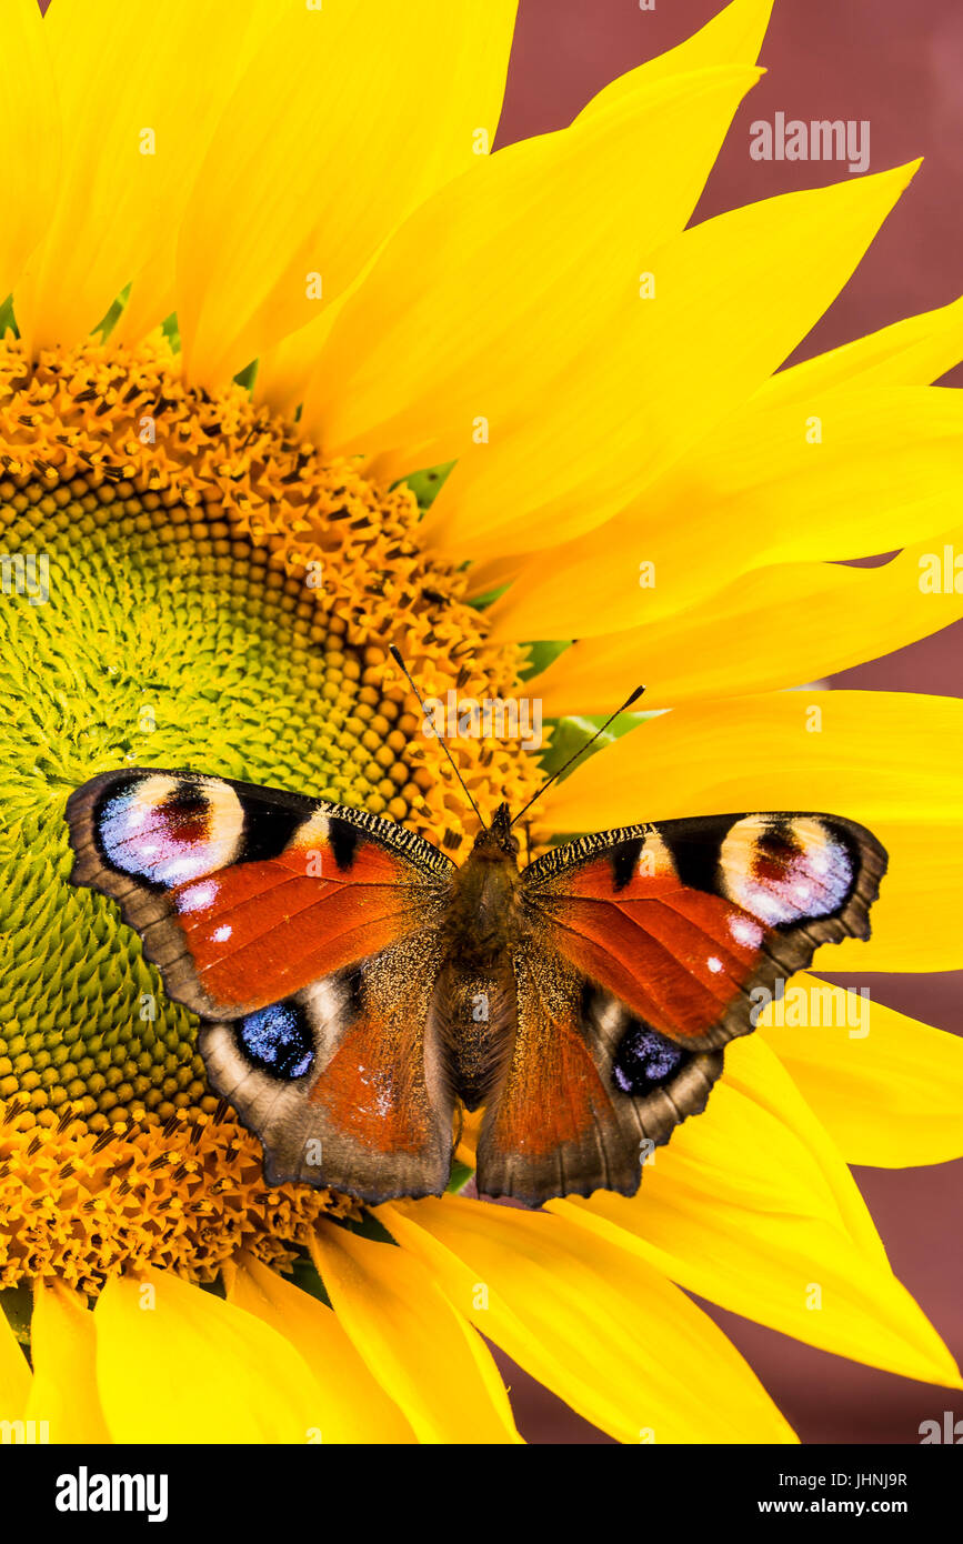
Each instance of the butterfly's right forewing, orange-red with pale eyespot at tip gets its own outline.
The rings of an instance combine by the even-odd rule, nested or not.
[[[872,834],[833,815],[721,815],[585,837],[523,892],[551,945],[640,1019],[722,1044],[750,1028],[755,984],[867,936],[884,868]]]

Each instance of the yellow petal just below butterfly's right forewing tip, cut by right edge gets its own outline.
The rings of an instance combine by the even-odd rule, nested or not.
[[[847,1163],[904,1169],[963,1156],[957,1034],[870,1002],[869,988],[863,997],[796,976],[787,993],[765,1008],[759,1036]]]

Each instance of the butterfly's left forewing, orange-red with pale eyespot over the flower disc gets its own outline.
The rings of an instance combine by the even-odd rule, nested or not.
[[[366,811],[196,772],[68,800],[74,882],[120,902],[168,993],[236,1019],[434,925],[451,862]]]

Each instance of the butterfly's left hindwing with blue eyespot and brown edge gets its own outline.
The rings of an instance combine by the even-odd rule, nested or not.
[[[378,1203],[440,1195],[454,1096],[431,1011],[437,933],[409,934],[244,1019],[204,1024],[208,1079],[264,1144],[270,1184]]]

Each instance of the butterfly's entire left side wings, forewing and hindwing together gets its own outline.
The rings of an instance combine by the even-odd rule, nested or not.
[[[366,811],[193,772],[108,772],[66,818],[71,879],[120,903],[204,1019],[210,1081],[261,1138],[270,1183],[370,1201],[444,1189],[441,852]]]

